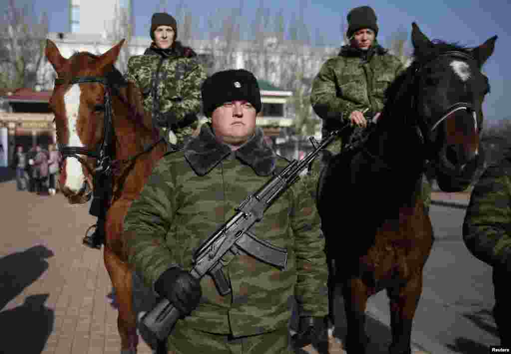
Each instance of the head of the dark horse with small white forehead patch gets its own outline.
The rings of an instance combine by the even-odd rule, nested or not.
[[[412,23],[416,95],[413,114],[433,161],[440,189],[462,191],[483,160],[479,135],[482,103],[490,91],[482,65],[493,54],[497,36],[476,48],[430,41]]]

